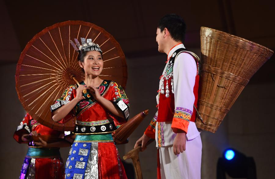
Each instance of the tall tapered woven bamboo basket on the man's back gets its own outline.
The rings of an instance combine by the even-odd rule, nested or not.
[[[215,133],[250,78],[273,51],[215,29],[201,27],[201,78],[196,126]]]

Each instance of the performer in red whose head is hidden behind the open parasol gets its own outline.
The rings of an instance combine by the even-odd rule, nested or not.
[[[30,136],[39,135],[60,138],[60,141],[47,143],[41,137],[40,142],[31,141]],[[18,143],[28,143],[29,146],[20,179],[64,179],[64,164],[59,147],[71,146],[70,142],[64,140],[64,132],[39,124],[27,113],[14,132],[13,138]]]

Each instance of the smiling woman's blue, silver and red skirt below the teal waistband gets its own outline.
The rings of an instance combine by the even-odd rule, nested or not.
[[[66,179],[127,179],[113,141],[74,141],[65,168]]]

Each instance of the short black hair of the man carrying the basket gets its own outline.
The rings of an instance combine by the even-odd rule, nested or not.
[[[171,34],[172,39],[175,41],[184,42],[186,24],[179,15],[166,14],[160,19],[158,28],[160,28],[161,32],[164,30],[164,28],[167,28]]]

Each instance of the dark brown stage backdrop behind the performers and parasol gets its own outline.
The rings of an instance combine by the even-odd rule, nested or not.
[[[187,24],[185,47],[200,55],[201,26],[243,37],[275,50],[274,1],[3,1],[0,0],[2,82],[2,138],[0,178],[17,178],[27,146],[13,140],[13,132],[25,111],[15,90],[15,69],[28,41],[45,27],[57,22],[82,20],[105,28],[120,43],[128,64],[126,92],[130,117],[149,109],[148,117],[118,146],[121,156],[134,147],[156,112],[159,76],[166,55],[157,51],[156,25],[167,13],[177,13]],[[255,159],[259,179],[275,178],[274,56],[251,78],[215,134],[202,132],[203,179],[216,177],[218,157],[233,147]],[[61,149],[66,160],[69,148]],[[156,147],[140,153],[143,176],[156,178]],[[126,161],[126,162],[131,162]],[[229,178],[229,177],[227,177]]]

